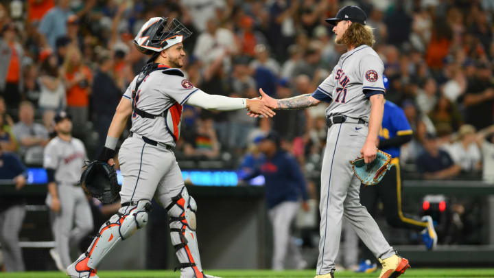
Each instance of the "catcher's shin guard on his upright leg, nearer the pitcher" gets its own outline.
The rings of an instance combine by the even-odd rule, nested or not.
[[[172,203],[167,207],[170,217],[170,236],[183,278],[205,277],[202,273],[196,237],[196,210],[196,200],[189,196],[185,187],[178,196],[172,198]]]

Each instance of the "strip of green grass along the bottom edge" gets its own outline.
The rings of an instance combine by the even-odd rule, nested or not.
[[[315,270],[281,271],[271,270],[208,270],[206,273],[222,278],[301,278],[314,277]],[[100,271],[100,278],[179,278],[180,273],[169,270],[143,270],[143,271]],[[379,272],[371,274],[357,274],[349,271],[335,273],[336,278],[377,278]],[[26,273],[0,273],[2,278],[64,278],[67,276],[60,272],[26,272]],[[409,269],[402,275],[403,278],[432,278],[432,277],[491,277],[494,278],[494,268],[462,268],[462,269]],[[401,278],[400,277],[400,278]]]

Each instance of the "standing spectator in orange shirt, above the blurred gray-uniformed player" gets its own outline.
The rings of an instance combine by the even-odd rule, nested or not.
[[[93,73],[82,64],[82,54],[75,45],[67,51],[62,76],[67,87],[67,112],[72,116],[74,137],[82,138],[86,134]]]

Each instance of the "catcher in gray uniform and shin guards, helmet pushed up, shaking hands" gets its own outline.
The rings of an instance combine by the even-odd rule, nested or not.
[[[144,54],[152,54],[128,86],[108,130],[100,161],[113,164],[117,139],[132,117],[130,137],[119,150],[119,165],[124,181],[121,209],[103,224],[86,253],[67,268],[73,278],[97,277],[103,257],[121,240],[145,227],[151,199],[156,198],[168,211],[170,234],[178,261],[180,277],[204,275],[196,237],[196,201],[189,196],[174,152],[180,135],[183,104],[217,111],[247,108],[272,117],[274,112],[261,100],[208,95],[184,78],[183,40],[191,35],[178,20],[154,17],[137,34],[134,44]]]

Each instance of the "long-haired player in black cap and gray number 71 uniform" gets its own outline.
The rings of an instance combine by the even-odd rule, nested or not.
[[[365,12],[346,6],[328,23],[335,25],[336,43],[348,51],[338,65],[311,95],[274,100],[261,91],[272,108],[297,109],[329,102],[329,126],[322,161],[320,194],[320,243],[317,278],[332,278],[340,244],[342,217],[349,221],[360,239],[379,259],[380,278],[398,277],[410,267],[407,259],[396,255],[375,220],[360,205],[360,181],[349,161],[363,156],[371,163],[377,152],[377,135],[384,111],[384,65],[372,49],[373,31],[366,24]]]

